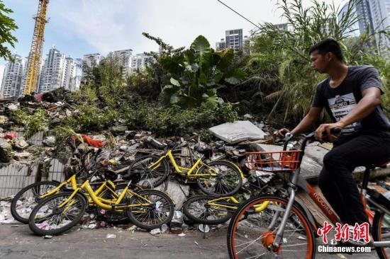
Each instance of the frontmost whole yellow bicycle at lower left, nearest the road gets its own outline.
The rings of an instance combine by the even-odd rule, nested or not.
[[[131,180],[119,193],[110,180],[94,191],[89,183],[93,176],[73,191],[59,192],[40,200],[28,219],[31,231],[42,236],[61,234],[81,221],[89,203],[109,212],[126,213],[141,229],[157,229],[171,221],[174,203],[164,192],[131,190]],[[105,191],[110,193],[108,197],[99,196]]]

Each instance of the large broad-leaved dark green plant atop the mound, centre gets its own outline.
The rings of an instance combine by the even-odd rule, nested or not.
[[[167,103],[184,108],[200,105],[214,109],[223,100],[218,88],[239,84],[245,72],[233,67],[235,53],[232,49],[215,52],[204,36],[199,35],[189,49],[172,55],[162,55],[158,60],[169,75],[169,83],[162,89]]]

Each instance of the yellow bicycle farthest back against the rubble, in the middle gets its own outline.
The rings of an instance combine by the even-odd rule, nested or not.
[[[170,164],[174,174],[183,178],[185,183],[197,183],[199,188],[209,195],[233,195],[243,185],[243,172],[234,163],[222,160],[205,163],[199,158],[191,167],[183,167],[177,164],[177,155],[172,153],[172,149],[162,156],[146,155],[135,159],[128,169],[128,174],[122,178],[126,180],[131,173],[139,173],[140,185],[156,187],[167,179]],[[211,154],[211,149],[198,151],[201,154]],[[189,157],[194,161],[191,149]]]

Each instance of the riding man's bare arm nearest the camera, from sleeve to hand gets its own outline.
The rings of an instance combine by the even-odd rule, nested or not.
[[[323,132],[326,137],[330,136],[330,129],[340,127],[341,129],[354,122],[358,122],[367,117],[381,103],[381,90],[377,87],[369,87],[362,91],[362,99],[357,103],[355,108],[340,121],[330,124],[323,124],[316,129],[316,139],[323,138]]]

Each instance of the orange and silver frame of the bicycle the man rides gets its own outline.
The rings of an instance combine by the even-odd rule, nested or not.
[[[308,141],[308,139],[309,138],[306,137],[306,139],[303,141],[302,148],[301,148],[303,151],[302,155],[301,155],[301,159],[303,158],[304,149],[306,147],[306,142]],[[288,141],[289,140],[287,140],[286,142],[288,142]],[[286,149],[286,144],[284,144],[284,149]],[[366,170],[369,170],[369,169],[366,169]],[[311,200],[313,200],[313,202],[316,203],[318,208],[321,209],[321,211],[326,215],[326,217],[328,217],[328,219],[330,219],[330,221],[334,225],[336,223],[342,224],[340,222],[340,219],[338,218],[338,216],[335,214],[335,212],[333,212],[333,209],[331,209],[328,205],[326,205],[325,201],[321,198],[320,195],[318,195],[316,190],[314,190],[313,187],[301,175],[299,175],[300,172],[301,172],[301,163],[299,163],[299,167],[291,174],[291,177],[290,177],[290,183],[288,185],[289,185],[289,192],[291,194],[289,196],[289,201],[286,205],[286,209],[285,209],[285,212],[284,212],[284,215],[282,218],[282,222],[281,222],[280,227],[277,230],[277,234],[274,238],[273,245],[275,247],[279,247],[279,243],[282,241],[284,226],[286,225],[286,221],[289,217],[289,212],[291,211],[291,208],[293,207],[294,202],[299,201],[299,199],[296,198],[297,188],[302,188],[309,195]],[[367,182],[368,182],[368,179],[367,179]],[[362,188],[361,198],[363,201],[363,205],[367,205],[367,202],[368,202],[369,204],[374,205],[374,207],[376,209],[381,210],[381,212],[384,212],[384,213],[390,215],[389,209],[386,209],[386,207],[379,205],[377,202],[372,200],[369,197],[369,195],[367,195],[367,190],[365,188],[367,188],[367,185],[363,186],[363,188]],[[299,202],[299,203],[301,203],[301,202]],[[316,224],[313,224],[313,222],[317,223],[316,219],[313,219],[312,214],[308,211],[308,209],[306,208],[305,205],[301,205],[301,207],[305,210],[306,215],[309,217],[309,221],[312,223],[312,226],[313,226],[315,233],[317,233],[317,226],[316,226]],[[369,217],[369,220],[372,221],[372,217],[373,217],[372,212],[369,213],[370,211],[367,209],[367,207],[365,207],[365,208],[366,208],[366,213],[367,213],[367,216]],[[279,213],[275,214],[274,219],[276,219],[277,217],[279,217]],[[272,223],[271,223],[271,225],[272,225]],[[270,228],[272,228],[272,226],[270,226]],[[372,246],[374,246],[374,247],[390,247],[390,241],[372,241]]]

